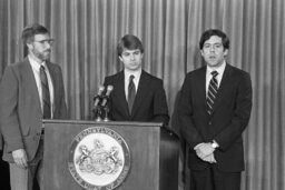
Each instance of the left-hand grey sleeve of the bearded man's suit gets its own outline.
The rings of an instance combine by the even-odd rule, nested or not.
[[[0,127],[9,152],[23,149],[18,120],[19,82],[11,67],[7,67],[0,84]]]

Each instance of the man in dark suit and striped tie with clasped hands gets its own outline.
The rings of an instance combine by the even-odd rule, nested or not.
[[[190,188],[239,190],[250,77],[225,61],[229,39],[223,31],[206,30],[199,48],[207,66],[187,73],[178,103],[181,134],[189,147]]]

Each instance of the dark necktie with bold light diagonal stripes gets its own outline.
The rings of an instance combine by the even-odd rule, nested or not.
[[[212,114],[212,112],[213,112],[215,99],[216,99],[217,92],[218,92],[218,81],[216,79],[218,72],[212,71],[210,74],[213,77],[209,81],[208,94],[207,94],[207,112],[208,112],[208,114]]]

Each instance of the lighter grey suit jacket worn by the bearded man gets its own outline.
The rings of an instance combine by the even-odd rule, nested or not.
[[[62,73],[59,66],[47,62],[53,89],[53,119],[67,117]],[[11,152],[24,149],[32,160],[39,144],[42,111],[36,79],[28,58],[8,66],[0,84],[0,127],[3,134],[3,160],[13,162]]]

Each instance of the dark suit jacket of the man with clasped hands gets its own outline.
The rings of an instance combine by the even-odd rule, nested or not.
[[[225,172],[244,170],[242,133],[248,124],[252,110],[252,81],[247,72],[226,64],[213,114],[206,111],[206,67],[187,73],[178,103],[181,134],[189,146],[189,168],[209,167],[202,161],[194,147],[202,142],[219,144],[214,166]]]

